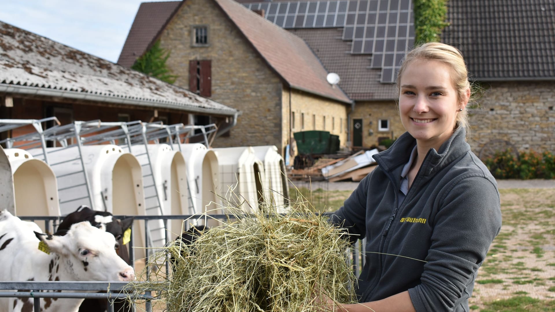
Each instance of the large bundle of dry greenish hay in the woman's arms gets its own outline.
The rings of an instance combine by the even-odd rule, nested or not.
[[[157,289],[165,310],[316,311],[319,295],[353,302],[349,243],[326,219],[255,213],[206,230],[193,244],[176,241],[165,250],[175,259],[169,284]]]

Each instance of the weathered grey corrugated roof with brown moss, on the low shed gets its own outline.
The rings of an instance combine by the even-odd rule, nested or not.
[[[176,85],[0,22],[0,90],[234,115]]]

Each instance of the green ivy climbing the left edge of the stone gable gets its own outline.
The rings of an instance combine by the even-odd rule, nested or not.
[[[131,68],[167,83],[174,83],[179,76],[170,74],[171,71],[166,66],[169,57],[170,51],[161,48],[160,41],[157,41],[149,51],[135,61]]]

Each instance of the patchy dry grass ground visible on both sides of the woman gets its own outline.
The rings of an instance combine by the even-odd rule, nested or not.
[[[315,211],[334,211],[352,193],[316,184],[291,188]],[[477,312],[555,311],[555,189],[501,189],[501,233],[469,300]]]

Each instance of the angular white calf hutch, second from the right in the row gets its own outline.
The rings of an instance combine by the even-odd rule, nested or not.
[[[256,157],[253,148],[215,148],[214,152],[220,167],[219,194],[245,212],[260,209],[260,204],[268,198],[268,187],[264,163]]]

